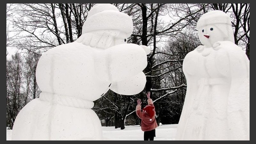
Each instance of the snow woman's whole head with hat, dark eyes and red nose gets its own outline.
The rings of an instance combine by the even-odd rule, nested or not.
[[[234,43],[231,19],[228,14],[220,10],[203,14],[196,24],[196,29],[199,40],[208,47],[212,47],[217,41]]]

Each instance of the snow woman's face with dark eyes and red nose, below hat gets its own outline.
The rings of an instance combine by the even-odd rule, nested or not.
[[[225,40],[225,34],[223,32],[225,29],[221,29],[217,25],[206,25],[198,29],[198,37],[202,44],[212,47],[212,45],[217,41]]]

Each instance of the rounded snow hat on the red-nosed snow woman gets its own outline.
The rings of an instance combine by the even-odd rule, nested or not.
[[[228,24],[231,26],[231,19],[229,15],[223,11],[215,10],[204,13],[197,21],[196,30],[209,24]]]

